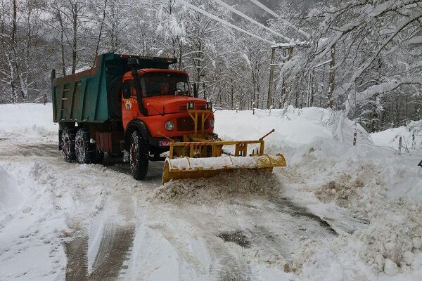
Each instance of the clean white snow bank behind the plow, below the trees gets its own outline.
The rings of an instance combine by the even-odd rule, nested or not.
[[[267,145],[288,145],[299,147],[321,140],[333,140],[333,131],[337,128],[338,117],[335,112],[319,107],[296,109],[289,106],[286,110],[217,110],[215,112],[215,132],[221,138],[234,140],[258,139],[275,129],[265,141]],[[369,135],[359,124],[345,119],[343,137],[352,145],[353,134],[359,131],[360,141],[370,142]]]

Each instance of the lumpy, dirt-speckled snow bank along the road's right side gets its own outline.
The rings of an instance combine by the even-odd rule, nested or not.
[[[327,272],[335,274],[326,280],[384,280],[389,275],[391,280],[418,280],[420,159],[329,141],[316,142],[312,148],[302,155],[299,148],[293,149],[295,161],[280,170],[286,188],[296,189],[290,192],[298,202],[324,202],[315,203],[312,210],[321,217],[338,210],[366,227],[357,225],[356,232],[341,235],[330,249],[311,245],[298,250],[302,259],[295,266],[302,268],[302,280],[321,280]]]

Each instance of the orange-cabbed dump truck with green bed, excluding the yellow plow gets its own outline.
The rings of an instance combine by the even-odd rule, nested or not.
[[[84,72],[56,78],[53,70],[53,120],[65,161],[98,163],[104,152],[126,152],[132,175],[142,179],[170,143],[212,136],[212,103],[194,97],[187,72],[169,69],[176,62],[107,53]]]

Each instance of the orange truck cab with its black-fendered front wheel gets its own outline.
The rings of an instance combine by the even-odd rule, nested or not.
[[[136,60],[129,60],[129,65],[137,64]],[[199,118],[199,123],[203,124],[200,133],[211,135],[214,131],[212,103],[193,97],[187,72],[132,67],[132,71],[124,74],[122,123],[134,178],[144,178],[148,159],[160,160],[159,155],[169,150],[172,141],[184,141],[186,136],[198,134],[188,112],[195,110],[210,111],[208,115],[200,115],[206,119]]]

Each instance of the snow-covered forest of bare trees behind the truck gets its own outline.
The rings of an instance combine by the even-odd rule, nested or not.
[[[177,58],[216,108],[331,107],[369,132],[422,119],[422,1],[234,2],[2,0],[0,103],[46,103],[52,69],[114,52]]]

